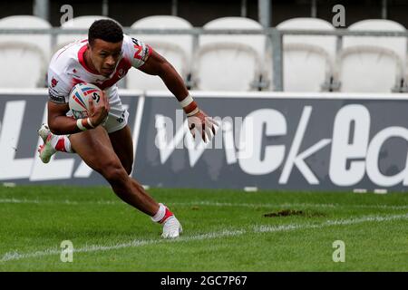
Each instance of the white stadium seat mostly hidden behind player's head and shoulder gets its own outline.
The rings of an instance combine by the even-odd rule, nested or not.
[[[101,15],[88,15],[78,16],[61,25],[62,29],[88,29],[93,22],[99,19],[111,19]],[[56,41],[56,47],[53,48],[53,52],[58,51],[66,44],[73,43],[77,40],[87,39],[88,34],[59,34]]]

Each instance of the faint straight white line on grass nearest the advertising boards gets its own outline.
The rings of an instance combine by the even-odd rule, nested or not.
[[[82,204],[95,204],[95,205],[112,205],[119,206],[123,205],[120,200],[83,200],[83,201],[73,201],[73,200],[53,200],[53,199],[18,199],[18,198],[0,198],[0,203],[34,203],[34,204],[63,204],[63,205],[82,205]],[[218,201],[195,201],[195,202],[169,202],[170,206],[209,206],[209,207],[242,207],[242,208],[295,208],[295,207],[306,207],[306,208],[384,208],[384,209],[407,209],[407,206],[392,206],[392,205],[347,205],[347,204],[324,204],[324,203],[263,203],[263,204],[252,204],[252,203],[231,203],[231,202],[218,202]]]

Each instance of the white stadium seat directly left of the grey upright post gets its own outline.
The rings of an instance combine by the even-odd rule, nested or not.
[[[223,17],[210,21],[203,28],[261,30],[262,25],[244,17]],[[262,34],[201,35],[194,56],[196,88],[241,92],[260,89],[265,47],[266,36]]]

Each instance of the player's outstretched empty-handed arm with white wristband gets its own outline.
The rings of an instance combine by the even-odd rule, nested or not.
[[[151,56],[146,63],[139,67],[143,73],[160,76],[167,88],[174,94],[185,111],[189,121],[189,131],[195,137],[195,130],[199,131],[202,140],[211,139],[215,134],[214,125],[218,125],[204,111],[199,110],[197,102],[189,95],[189,90],[180,77],[180,74],[174,69],[164,57],[152,50]]]

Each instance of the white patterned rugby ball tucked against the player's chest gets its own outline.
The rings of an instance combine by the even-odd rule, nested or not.
[[[93,104],[98,106],[102,98],[101,89],[89,82],[81,82],[73,86],[68,103],[75,119],[88,117],[90,98]]]

